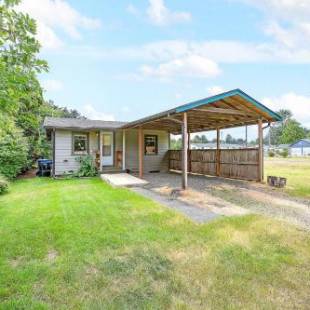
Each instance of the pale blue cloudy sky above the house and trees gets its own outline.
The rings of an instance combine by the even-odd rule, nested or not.
[[[50,65],[40,79],[57,105],[130,121],[241,88],[310,127],[310,1],[24,0],[19,9],[38,21]]]

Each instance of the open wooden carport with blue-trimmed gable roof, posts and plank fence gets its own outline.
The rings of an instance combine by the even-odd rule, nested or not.
[[[182,150],[169,151],[169,168],[182,171],[182,188],[189,172],[228,178],[263,181],[263,129],[281,117],[240,89],[194,101],[128,123],[124,129],[139,131],[139,176],[143,177],[143,130],[161,129],[182,135]],[[258,147],[220,149],[220,131],[257,125]],[[263,124],[267,124],[263,127]],[[189,150],[189,135],[215,130],[215,150]]]

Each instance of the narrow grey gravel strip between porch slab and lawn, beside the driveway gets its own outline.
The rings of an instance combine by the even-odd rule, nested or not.
[[[150,198],[154,201],[157,201],[158,203],[170,209],[181,212],[182,214],[186,215],[196,223],[206,223],[220,217],[220,215],[215,214],[209,211],[208,209],[203,209],[196,207],[194,205],[189,205],[185,202],[179,201],[178,199],[168,198],[167,196],[160,195],[146,188],[131,187],[130,189],[146,198]]]

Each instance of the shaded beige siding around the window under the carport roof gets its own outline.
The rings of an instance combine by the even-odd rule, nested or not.
[[[150,171],[167,171],[168,170],[168,149],[169,134],[162,130],[143,130],[144,135],[158,136],[158,154],[143,156],[144,172]],[[139,169],[139,149],[138,149],[138,130],[126,130],[126,169],[138,171]],[[144,154],[144,148],[143,148]]]

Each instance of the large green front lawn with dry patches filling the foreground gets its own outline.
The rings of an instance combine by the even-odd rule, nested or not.
[[[310,235],[260,216],[197,225],[99,179],[0,197],[0,309],[309,307]]]

